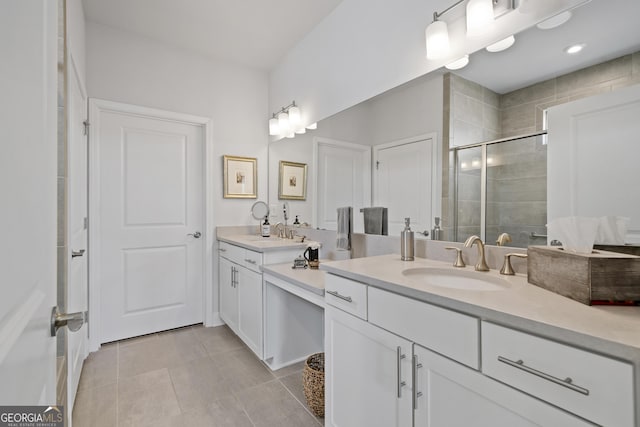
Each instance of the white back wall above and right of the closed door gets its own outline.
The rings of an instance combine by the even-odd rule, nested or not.
[[[213,120],[215,225],[253,224],[254,199],[222,197],[222,155],[258,158],[258,199],[267,200],[267,74],[87,23],[89,96]]]

